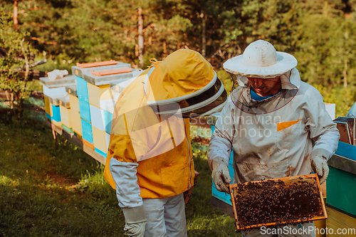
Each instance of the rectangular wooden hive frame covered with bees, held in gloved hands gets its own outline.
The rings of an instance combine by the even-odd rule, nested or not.
[[[236,231],[327,218],[318,175],[229,184]]]

